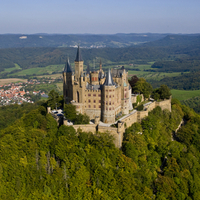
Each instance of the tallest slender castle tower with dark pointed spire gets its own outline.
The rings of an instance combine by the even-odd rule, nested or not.
[[[81,57],[80,47],[78,46],[75,63],[75,81],[79,81],[81,73],[83,73],[83,60]]]

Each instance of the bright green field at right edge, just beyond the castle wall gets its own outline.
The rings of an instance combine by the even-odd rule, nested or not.
[[[200,90],[171,90],[171,93],[172,97],[179,101],[200,96]]]

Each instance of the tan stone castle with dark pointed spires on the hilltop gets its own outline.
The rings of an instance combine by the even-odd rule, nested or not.
[[[66,104],[76,106],[79,113],[90,119],[104,123],[114,123],[121,115],[132,110],[131,87],[128,72],[122,68],[108,70],[105,74],[100,61],[99,70],[83,71],[80,47],[75,59],[75,72],[72,72],[69,59],[63,71],[63,96]]]

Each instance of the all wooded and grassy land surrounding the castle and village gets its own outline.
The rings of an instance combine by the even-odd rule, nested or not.
[[[172,94],[172,111],[157,107],[127,128],[121,149],[109,133],[76,132],[47,114],[64,106],[62,80],[40,86],[45,100],[0,107],[0,199],[200,199],[200,35],[145,35],[0,35],[1,79],[60,77],[80,44],[84,69],[101,59],[105,71],[124,66],[147,97]]]

